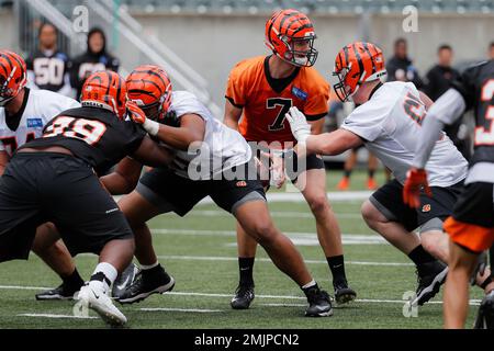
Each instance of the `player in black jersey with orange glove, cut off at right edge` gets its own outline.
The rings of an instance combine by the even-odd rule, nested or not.
[[[478,256],[491,248],[491,276],[482,283],[486,296],[481,303],[475,327],[494,329],[494,59],[467,69],[428,111],[416,143],[404,199],[417,206],[422,189],[428,189],[434,182],[428,165],[441,129],[470,109],[475,111],[474,154],[464,190],[445,222],[451,252],[444,296],[445,328],[464,327],[468,282]]]

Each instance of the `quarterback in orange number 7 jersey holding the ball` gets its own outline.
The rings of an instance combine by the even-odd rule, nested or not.
[[[276,12],[266,23],[266,45],[272,55],[243,60],[229,75],[225,124],[239,131],[247,141],[266,145],[271,150],[287,149],[296,141],[285,114],[296,106],[312,123],[313,133],[321,133],[328,112],[329,86],[312,67],[317,59],[315,38],[313,24],[304,13],[293,9]],[[278,151],[270,154],[274,169],[270,183],[280,188],[285,179],[283,160],[273,156]],[[305,167],[299,166],[294,172],[287,168],[287,173],[301,189],[315,216],[317,237],[333,274],[336,302],[348,303],[357,294],[346,279],[341,233],[326,197],[324,162],[313,155],[306,158]],[[239,225],[237,242],[240,279],[232,307],[245,309],[254,299],[257,244]]]

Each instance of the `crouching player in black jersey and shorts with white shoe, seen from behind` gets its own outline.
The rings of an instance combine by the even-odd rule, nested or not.
[[[135,245],[123,213],[94,170],[126,155],[149,166],[166,165],[171,157],[136,124],[124,121],[126,88],[117,73],[90,76],[81,104],[54,117],[42,137],[23,145],[7,166],[0,179],[0,262],[27,259],[36,227],[54,223],[72,256],[99,254],[77,298],[119,326],[126,318],[108,293],[131,262]]]

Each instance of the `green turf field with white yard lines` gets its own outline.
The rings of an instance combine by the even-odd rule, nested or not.
[[[379,174],[382,182],[382,174]],[[329,172],[329,191],[340,172]],[[352,178],[362,189],[364,174]],[[317,244],[315,222],[296,193],[277,193],[285,201],[270,203],[276,224],[301,250],[307,265],[324,288],[329,271]],[[338,193],[341,195],[344,193]],[[149,223],[160,262],[177,284],[173,292],[153,295],[139,304],[121,306],[128,328],[440,328],[441,296],[418,308],[416,317],[404,316],[403,296],[416,287],[413,264],[401,252],[372,233],[360,217],[364,192],[345,193],[333,201],[344,233],[346,270],[357,301],[336,306],[329,318],[303,317],[306,301],[302,291],[279,272],[260,248],[255,265],[256,299],[248,310],[233,310],[229,299],[238,279],[235,222],[211,204],[200,205],[184,218],[164,215]],[[283,200],[283,199],[282,199]],[[288,201],[289,200],[289,201]],[[77,258],[88,279],[97,258]],[[0,264],[0,328],[106,328],[90,313],[75,318],[71,302],[36,302],[34,294],[59,284],[59,280],[32,254],[29,262]],[[472,288],[472,304],[482,294]],[[476,306],[471,308],[472,326]]]

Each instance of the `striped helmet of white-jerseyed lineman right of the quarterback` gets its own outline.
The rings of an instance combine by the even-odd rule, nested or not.
[[[361,83],[385,75],[382,50],[374,44],[356,42],[348,44],[336,55],[333,76],[337,76],[339,82],[333,88],[339,100],[349,101]]]

